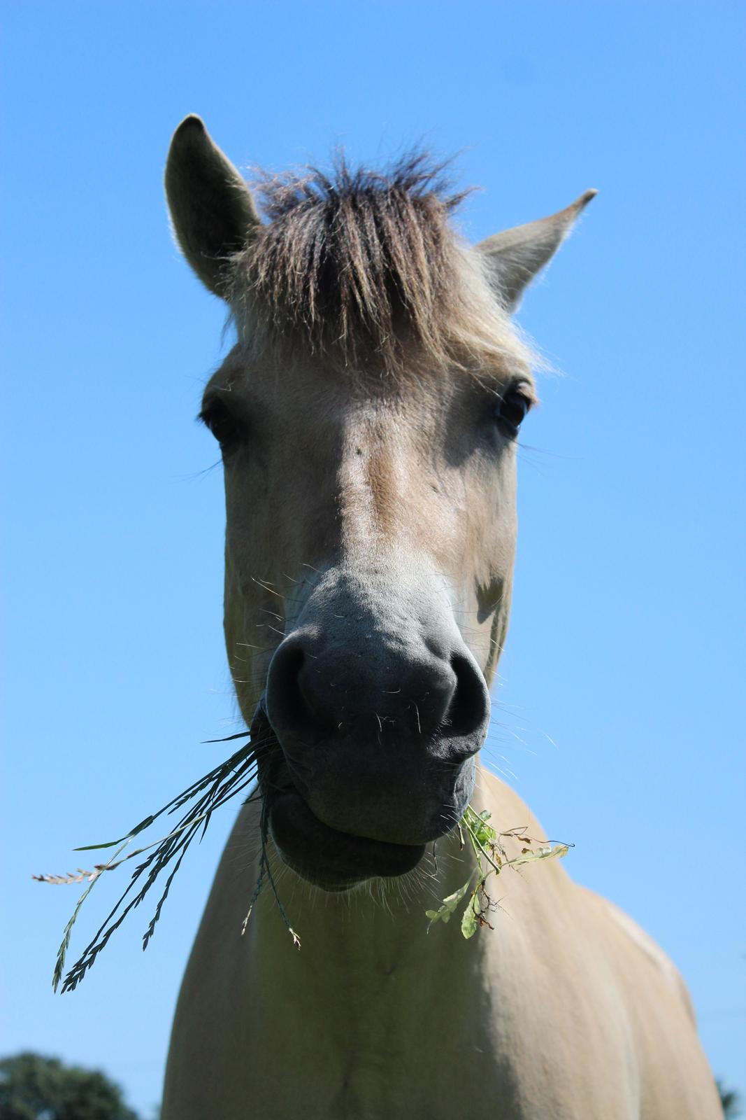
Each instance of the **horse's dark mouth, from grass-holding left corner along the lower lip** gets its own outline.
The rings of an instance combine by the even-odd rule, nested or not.
[[[263,703],[252,721],[257,747],[265,822],[283,861],[306,883],[347,890],[366,879],[391,878],[413,870],[425,844],[391,843],[342,832],[320,820],[299,790]]]

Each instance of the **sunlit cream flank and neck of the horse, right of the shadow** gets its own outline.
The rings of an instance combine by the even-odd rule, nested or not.
[[[526,823],[546,836],[497,777],[483,775],[481,795],[500,827]],[[568,1114],[582,1094],[587,1116],[602,1114],[601,1100],[605,1116],[721,1116],[689,993],[652,937],[557,860],[503,871],[492,889],[501,908],[488,942],[497,1045],[513,1055],[518,1082],[537,1086],[537,1102],[545,1067],[560,1098],[566,1084]]]

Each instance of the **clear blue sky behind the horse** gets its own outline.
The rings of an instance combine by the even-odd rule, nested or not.
[[[671,954],[746,1090],[743,332],[746,6],[11,0],[2,44],[6,1015],[1,1052],[160,1096],[233,819],[75,993],[74,868],[224,757],[223,501],[195,422],[223,310],[167,225],[173,128],[240,166],[459,152],[473,239],[599,190],[522,325],[561,371],[520,452],[488,755],[567,869]],[[539,874],[539,872],[537,872]],[[93,931],[101,884],[74,949]],[[100,894],[98,908],[95,894]],[[495,933],[495,936],[499,934]],[[87,937],[86,937],[87,940]]]

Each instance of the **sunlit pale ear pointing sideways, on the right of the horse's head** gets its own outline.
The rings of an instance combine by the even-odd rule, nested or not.
[[[476,245],[483,256],[490,282],[506,310],[511,314],[521,301],[523,289],[555,255],[578,214],[596,190],[586,190],[570,206],[538,222],[517,225],[485,237]]]

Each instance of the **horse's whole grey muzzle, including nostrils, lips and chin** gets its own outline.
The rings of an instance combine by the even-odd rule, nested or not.
[[[490,717],[450,612],[434,623],[422,599],[374,609],[353,590],[337,577],[311,596],[259,706],[272,836],[300,875],[338,889],[410,870],[456,824]]]

